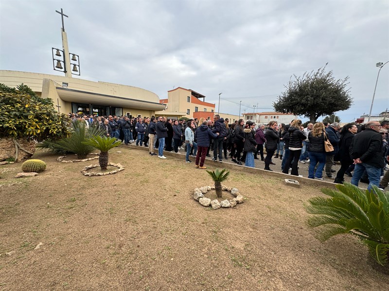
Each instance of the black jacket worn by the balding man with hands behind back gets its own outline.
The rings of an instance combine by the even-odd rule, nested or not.
[[[355,134],[350,145],[350,157],[361,160],[368,165],[382,168],[384,159],[382,158],[382,136],[374,129],[365,129]]]

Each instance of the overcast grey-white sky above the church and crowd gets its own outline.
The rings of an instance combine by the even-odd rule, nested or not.
[[[7,1],[0,0],[0,69],[53,71],[62,48],[81,77],[150,90],[166,98],[192,89],[222,113],[271,111],[291,75],[327,65],[350,77],[352,107],[342,122],[369,113],[379,68],[389,61],[389,1]],[[77,77],[79,78],[79,77]],[[389,110],[389,63],[372,113]],[[321,120],[319,118],[318,120]]]

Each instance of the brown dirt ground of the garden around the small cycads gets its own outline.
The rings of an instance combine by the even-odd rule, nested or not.
[[[389,267],[354,237],[322,243],[306,226],[318,187],[231,170],[224,185],[246,200],[212,210],[193,199],[212,179],[178,155],[119,146],[109,162],[125,170],[103,177],[81,175],[90,162],[34,158],[47,169],[32,178],[14,179],[20,163],[0,166],[0,290],[389,288]]]

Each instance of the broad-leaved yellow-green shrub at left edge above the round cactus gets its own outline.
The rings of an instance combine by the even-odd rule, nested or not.
[[[38,97],[23,84],[11,88],[0,83],[0,139],[12,139],[16,161],[19,149],[33,154],[21,142],[57,140],[70,133],[69,125],[69,117],[56,112],[50,98]]]

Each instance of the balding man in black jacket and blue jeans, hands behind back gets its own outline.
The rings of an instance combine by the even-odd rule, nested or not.
[[[380,184],[381,168],[384,167],[383,153],[381,152],[382,137],[378,133],[381,125],[378,121],[370,121],[366,129],[356,134],[350,146],[350,157],[354,160],[355,169],[351,183],[358,186],[363,172],[369,176],[368,190],[372,185]]]

